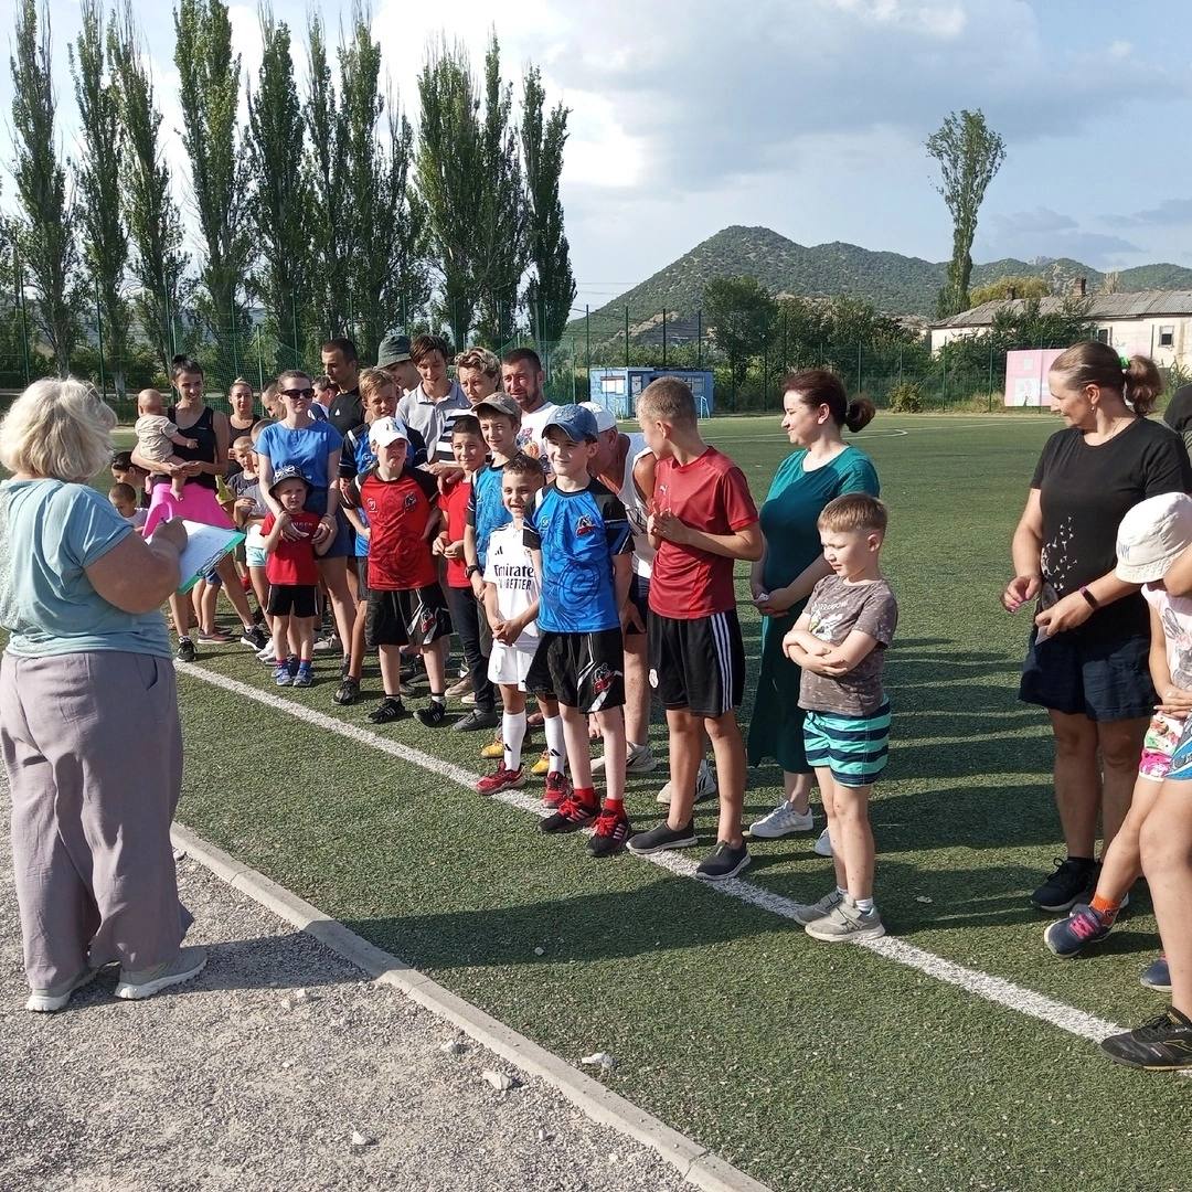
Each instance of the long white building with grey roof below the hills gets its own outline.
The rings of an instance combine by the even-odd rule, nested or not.
[[[1075,294],[1080,297],[1080,293]],[[1043,313],[1057,311],[1062,298],[1042,299]],[[1192,368],[1192,290],[1137,290],[1131,293],[1089,294],[1088,317],[1097,339],[1122,355],[1150,356],[1161,368]],[[931,350],[952,340],[981,335],[1001,310],[1022,309],[1022,298],[982,303],[931,327]]]

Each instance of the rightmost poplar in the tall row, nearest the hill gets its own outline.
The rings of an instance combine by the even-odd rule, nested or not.
[[[558,343],[576,300],[571,249],[563,230],[559,176],[567,142],[567,108],[544,117],[546,93],[538,67],[526,73],[521,141],[526,161],[527,242],[533,277],[526,286],[530,330],[540,343]]]

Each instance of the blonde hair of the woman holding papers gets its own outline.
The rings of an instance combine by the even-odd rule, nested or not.
[[[0,462],[10,472],[86,484],[112,458],[116,411],[74,377],[35,380],[0,422]]]

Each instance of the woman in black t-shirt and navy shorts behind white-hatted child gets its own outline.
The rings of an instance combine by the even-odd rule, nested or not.
[[[1038,601],[1019,699],[1051,718],[1068,856],[1031,901],[1068,911],[1097,882],[1098,813],[1107,846],[1130,807],[1156,700],[1147,606],[1137,584],[1113,575],[1118,523],[1147,497],[1187,492],[1192,471],[1180,437],[1146,417],[1163,389],[1151,360],[1078,343],[1048,383],[1067,426],[1035,470],[1001,602],[1013,613]]]

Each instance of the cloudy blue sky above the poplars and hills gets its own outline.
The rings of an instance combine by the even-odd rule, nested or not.
[[[77,5],[48,2],[58,136],[74,154],[67,44]],[[297,32],[303,80],[309,7],[273,0]],[[134,8],[185,210],[170,5]],[[350,4],[323,0],[319,11],[334,31]],[[373,0],[370,12],[390,86],[415,123],[428,45],[459,42],[479,67],[493,29],[515,92],[533,62],[548,104],[570,108],[563,200],[578,311],[730,224],[945,260],[951,222],[924,142],[966,107],[981,108],[1007,148],[976,261],[1192,266],[1192,155],[1179,131],[1192,128],[1192,8],[1180,0]],[[257,10],[230,13],[253,79]],[[11,103],[2,72],[6,209]]]

